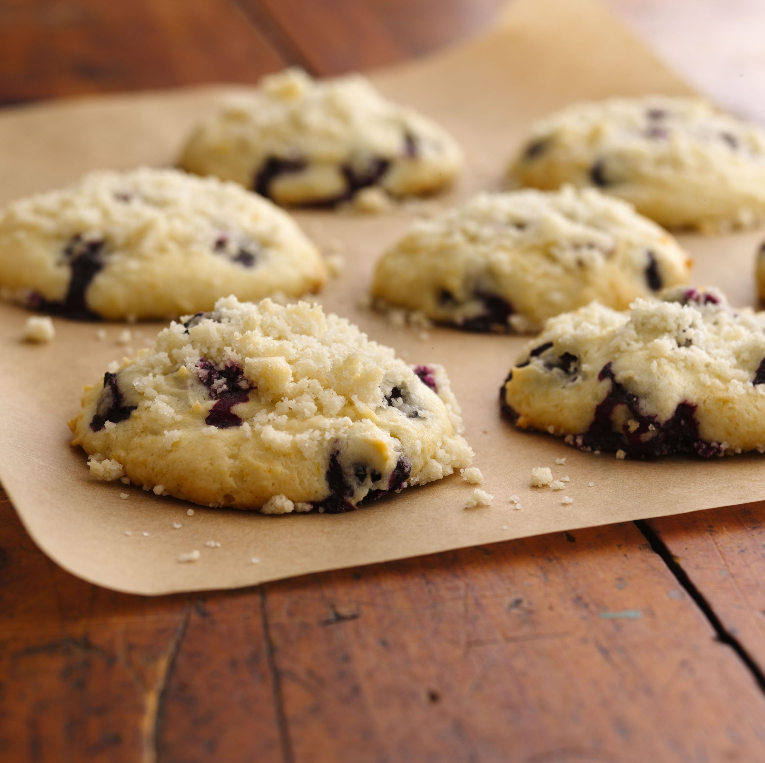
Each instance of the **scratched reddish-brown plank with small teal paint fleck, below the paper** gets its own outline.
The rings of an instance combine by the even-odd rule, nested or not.
[[[765,697],[633,524],[266,590],[296,761],[765,759]]]

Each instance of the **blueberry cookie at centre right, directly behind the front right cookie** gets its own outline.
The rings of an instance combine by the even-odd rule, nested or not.
[[[591,300],[623,309],[684,283],[689,265],[666,231],[597,190],[482,193],[415,222],[372,294],[462,329],[539,330]]]

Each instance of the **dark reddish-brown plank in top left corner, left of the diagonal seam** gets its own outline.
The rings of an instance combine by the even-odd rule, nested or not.
[[[230,0],[11,0],[0,51],[0,103],[254,83],[286,63]]]

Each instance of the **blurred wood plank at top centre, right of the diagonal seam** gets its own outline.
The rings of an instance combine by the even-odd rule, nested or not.
[[[506,0],[237,0],[270,15],[309,69],[370,69],[437,50],[486,29]]]

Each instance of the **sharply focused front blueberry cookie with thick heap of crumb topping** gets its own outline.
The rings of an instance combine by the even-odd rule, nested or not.
[[[349,511],[473,455],[440,366],[406,365],[317,305],[269,299],[227,297],[171,323],[86,388],[70,427],[96,469],[266,513]]]

